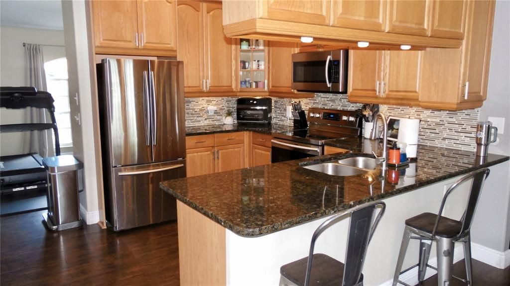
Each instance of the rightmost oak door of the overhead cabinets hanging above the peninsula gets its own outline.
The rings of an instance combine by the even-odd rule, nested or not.
[[[467,6],[467,0],[433,1],[430,36],[464,39]]]

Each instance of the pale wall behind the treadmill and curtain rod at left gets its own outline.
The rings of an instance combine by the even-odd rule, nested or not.
[[[65,56],[64,31],[37,28],[0,26],[0,86],[21,87],[27,85],[23,42],[62,47],[42,46],[44,61],[48,62]],[[24,110],[5,109],[0,111],[2,124],[22,123]],[[20,154],[23,133],[0,134],[1,155]]]

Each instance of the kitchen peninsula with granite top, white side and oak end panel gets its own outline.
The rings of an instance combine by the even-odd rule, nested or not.
[[[398,184],[381,178],[380,170],[337,177],[302,167],[354,156],[363,151],[365,141],[330,142],[352,154],[162,182],[177,198],[181,284],[275,285],[279,267],[308,255],[313,231],[329,215],[376,199],[384,199],[387,211],[369,245],[364,275],[366,285],[384,283],[392,278],[405,218],[437,212],[445,186],[470,171],[508,160],[491,154],[477,162],[472,152],[420,146],[419,159]],[[461,205],[448,204],[444,215],[460,217]],[[346,227],[344,220],[331,228],[316,252],[343,261]],[[417,251],[409,251],[404,266],[417,259]]]

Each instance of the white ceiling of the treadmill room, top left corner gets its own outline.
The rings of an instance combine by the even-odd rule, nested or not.
[[[0,0],[3,26],[64,30],[60,0]]]

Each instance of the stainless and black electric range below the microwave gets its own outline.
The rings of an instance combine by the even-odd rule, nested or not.
[[[323,155],[328,140],[362,134],[363,121],[354,110],[310,107],[307,119],[307,129],[272,133],[272,163]]]

